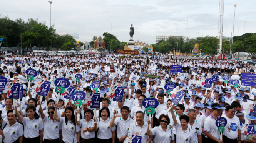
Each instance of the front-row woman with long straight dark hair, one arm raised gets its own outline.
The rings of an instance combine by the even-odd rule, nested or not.
[[[80,127],[75,123],[75,114],[72,107],[65,109],[65,117],[57,117],[58,107],[55,104],[54,120],[62,124],[62,140],[63,143],[79,142]]]

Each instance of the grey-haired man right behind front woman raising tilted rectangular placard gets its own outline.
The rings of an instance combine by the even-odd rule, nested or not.
[[[189,116],[188,127],[191,128],[192,133],[195,134],[195,143],[202,143],[202,128],[201,124],[196,120],[196,110],[189,109],[187,116]]]

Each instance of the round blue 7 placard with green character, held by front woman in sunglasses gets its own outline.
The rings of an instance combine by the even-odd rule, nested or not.
[[[151,115],[154,114],[155,109],[159,105],[159,102],[156,98],[145,98],[142,101],[142,106],[145,107],[145,111],[149,114],[149,120],[151,120]],[[149,130],[151,130],[151,123],[149,123]]]

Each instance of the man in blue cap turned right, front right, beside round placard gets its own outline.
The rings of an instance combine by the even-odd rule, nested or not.
[[[215,125],[216,119],[221,115],[222,110],[226,109],[221,107],[218,103],[211,105],[212,113],[204,121],[204,134],[206,137],[207,143],[223,143],[223,140],[220,140],[220,135]]]

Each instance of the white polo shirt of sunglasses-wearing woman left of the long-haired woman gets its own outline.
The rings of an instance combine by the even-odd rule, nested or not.
[[[50,117],[45,116],[44,119],[44,138],[54,140],[60,137],[59,130],[62,129],[62,125],[58,121],[52,122]]]

